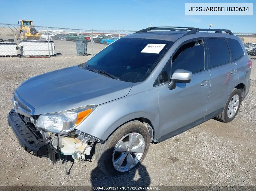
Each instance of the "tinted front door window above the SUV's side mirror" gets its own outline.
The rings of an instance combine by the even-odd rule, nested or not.
[[[192,74],[204,71],[204,45],[183,50],[172,63],[172,73],[177,69],[188,70]]]

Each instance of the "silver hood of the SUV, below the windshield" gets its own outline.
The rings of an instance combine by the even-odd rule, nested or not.
[[[106,103],[128,95],[132,85],[72,66],[29,78],[16,91],[39,115]]]

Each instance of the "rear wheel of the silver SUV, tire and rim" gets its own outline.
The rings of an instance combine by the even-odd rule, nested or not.
[[[228,97],[222,113],[218,114],[215,119],[228,123],[231,122],[238,113],[242,101],[241,91],[234,88]]]

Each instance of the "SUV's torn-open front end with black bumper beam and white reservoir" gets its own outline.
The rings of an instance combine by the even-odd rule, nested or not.
[[[90,155],[94,142],[103,140],[88,135],[80,130],[65,134],[48,132],[35,126],[35,116],[24,116],[12,109],[8,114],[8,124],[12,127],[20,145],[30,154],[49,158],[54,164],[62,159],[61,155],[72,155],[78,162]]]

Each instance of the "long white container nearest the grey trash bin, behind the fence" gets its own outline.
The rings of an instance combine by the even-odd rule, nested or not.
[[[22,40],[19,42],[19,49],[22,56],[48,56],[48,41]],[[50,56],[54,56],[55,46],[49,41]]]

